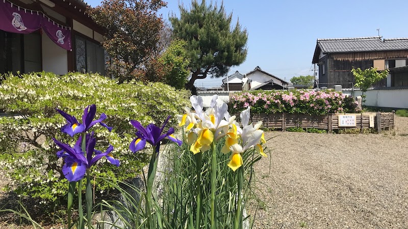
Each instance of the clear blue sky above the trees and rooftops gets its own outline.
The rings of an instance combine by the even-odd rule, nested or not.
[[[210,1],[207,1],[210,2]],[[221,1],[213,1],[220,4]],[[99,0],[88,0],[95,7]],[[159,11],[167,20],[180,15],[179,3],[189,8],[191,0],[168,1]],[[224,0],[233,24],[239,18],[248,31],[248,55],[244,63],[231,68],[247,73],[259,66],[279,78],[313,75],[312,58],[318,38],[408,37],[407,0],[271,1]],[[196,80],[198,87],[219,87],[221,78]]]

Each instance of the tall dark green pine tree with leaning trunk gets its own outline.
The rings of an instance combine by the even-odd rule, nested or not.
[[[180,18],[174,14],[169,18],[173,26],[173,36],[187,42],[187,56],[191,78],[186,84],[187,89],[194,87],[196,79],[222,77],[232,66],[240,65],[245,61],[248,34],[246,29],[241,30],[237,21],[234,28],[231,26],[232,14],[226,14],[221,6],[207,5],[193,0],[190,10],[180,8]]]

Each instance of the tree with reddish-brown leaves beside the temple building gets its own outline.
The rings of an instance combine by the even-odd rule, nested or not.
[[[163,19],[157,11],[165,6],[161,0],[104,0],[89,11],[105,28],[102,45],[112,58],[108,72],[120,82],[140,77],[137,70],[160,49]]]

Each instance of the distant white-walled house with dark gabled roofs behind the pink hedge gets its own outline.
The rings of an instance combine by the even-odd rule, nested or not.
[[[288,87],[288,82],[278,78],[257,66],[254,70],[241,74],[236,71],[234,74],[222,79],[224,91],[243,90],[282,90]]]

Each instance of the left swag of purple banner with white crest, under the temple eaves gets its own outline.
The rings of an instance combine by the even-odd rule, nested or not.
[[[30,34],[41,26],[42,13],[31,11],[9,2],[0,2],[0,30]]]

